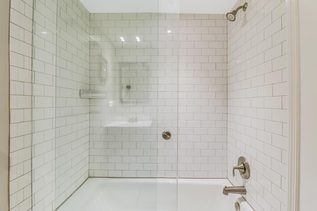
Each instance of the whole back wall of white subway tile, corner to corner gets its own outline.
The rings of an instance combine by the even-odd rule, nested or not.
[[[91,176],[175,177],[177,137],[160,134],[178,125],[179,176],[226,177],[226,26],[222,14],[91,15],[91,89],[107,91],[91,100]],[[158,125],[110,127],[131,119]]]

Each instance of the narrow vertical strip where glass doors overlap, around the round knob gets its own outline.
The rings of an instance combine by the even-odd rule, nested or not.
[[[178,0],[159,1],[158,19],[158,211],[177,211]]]

